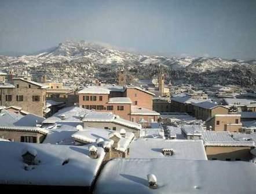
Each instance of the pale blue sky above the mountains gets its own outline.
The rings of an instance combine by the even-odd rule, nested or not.
[[[0,0],[0,54],[64,40],[168,56],[256,58],[256,1]]]

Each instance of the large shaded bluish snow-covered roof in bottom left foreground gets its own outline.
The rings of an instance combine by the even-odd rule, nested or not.
[[[24,170],[21,152],[36,150],[34,169]],[[98,148],[98,158],[89,157],[86,146],[60,146],[0,141],[0,184],[91,186],[105,152]],[[67,164],[64,162],[67,161]],[[64,164],[64,165],[63,165]]]

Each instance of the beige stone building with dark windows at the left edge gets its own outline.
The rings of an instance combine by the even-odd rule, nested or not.
[[[0,106],[19,106],[24,111],[43,117],[46,109],[46,85],[22,78],[13,84],[0,84]]]

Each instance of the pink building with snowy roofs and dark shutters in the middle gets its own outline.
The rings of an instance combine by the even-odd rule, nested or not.
[[[155,94],[138,87],[89,86],[79,91],[78,95],[79,106],[111,112],[125,120],[149,125],[159,117],[159,113],[152,110]]]

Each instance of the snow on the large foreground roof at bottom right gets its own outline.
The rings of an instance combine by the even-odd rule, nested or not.
[[[158,188],[149,188],[147,174]],[[105,165],[94,193],[256,193],[255,181],[254,163],[118,158]]]

